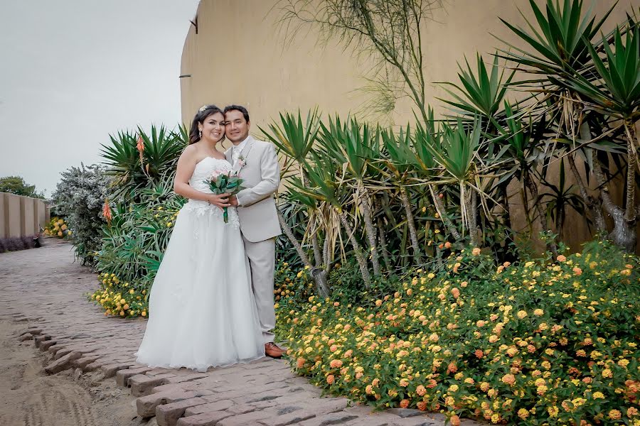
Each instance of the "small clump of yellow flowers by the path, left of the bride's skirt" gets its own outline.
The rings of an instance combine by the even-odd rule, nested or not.
[[[104,308],[105,315],[146,317],[149,312],[146,289],[122,283],[115,274],[108,273],[100,274],[100,287],[89,298]]]

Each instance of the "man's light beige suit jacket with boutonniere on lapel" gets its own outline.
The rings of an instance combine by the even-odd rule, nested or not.
[[[273,197],[280,185],[280,165],[272,143],[252,136],[241,156],[245,166],[240,170],[240,178],[245,189],[236,195],[240,230],[247,241],[257,243],[282,234]],[[231,148],[225,157],[232,162]]]

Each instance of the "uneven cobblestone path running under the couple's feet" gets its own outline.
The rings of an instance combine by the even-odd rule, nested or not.
[[[50,354],[46,371],[101,371],[105,380],[130,388],[139,417],[155,417],[158,425],[444,425],[439,414],[372,413],[345,398],[323,397],[284,360],[265,358],[206,373],[142,366],[134,352],[145,320],[105,317],[85,297],[95,288],[96,275],[74,263],[71,246],[60,240],[0,254],[0,318],[23,322],[18,340],[33,339]]]

